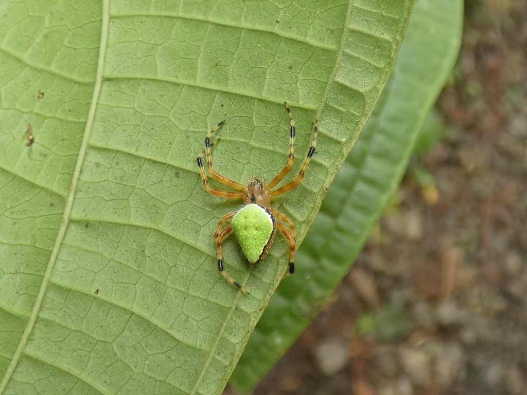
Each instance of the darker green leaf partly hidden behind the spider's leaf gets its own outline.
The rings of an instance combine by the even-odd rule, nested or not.
[[[459,51],[461,0],[418,0],[392,76],[231,377],[247,392],[326,304],[404,175]]]

